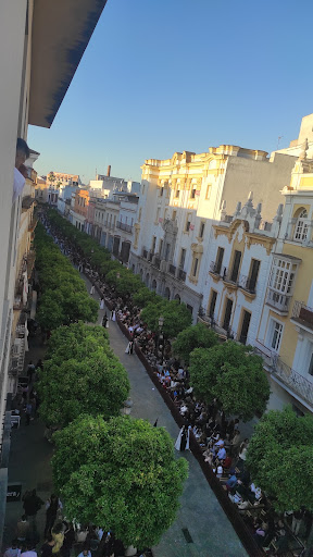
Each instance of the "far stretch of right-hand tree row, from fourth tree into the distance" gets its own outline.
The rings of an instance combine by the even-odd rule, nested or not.
[[[163,334],[166,338],[175,338],[180,331],[191,324],[192,318],[185,304],[176,300],[168,301],[149,290],[139,275],[121,265],[118,261],[112,260],[110,251],[99,246],[88,234],[75,228],[57,211],[49,210],[48,218],[51,224],[57,226],[62,235],[68,238],[91,265],[105,277],[105,283],[114,287],[118,296],[132,297],[133,302],[142,309],[142,320],[152,332],[159,332],[161,315],[164,318]]]

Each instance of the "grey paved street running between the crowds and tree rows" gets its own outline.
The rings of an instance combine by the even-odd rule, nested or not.
[[[87,287],[90,283],[86,280]],[[95,296],[98,299],[97,295]],[[101,323],[104,311],[99,311]],[[130,396],[134,401],[133,416],[145,418],[158,425],[165,426],[173,438],[178,428],[162,397],[154,388],[137,356],[125,354],[127,341],[118,325],[110,321],[111,346],[125,366],[132,385]],[[37,361],[43,349],[39,338],[32,342],[32,351],[27,361]],[[49,465],[52,446],[43,437],[43,426],[36,420],[27,428],[25,422],[20,430],[12,432],[12,448],[9,468],[9,481],[21,481],[23,493],[36,487],[38,495],[46,499],[52,491],[51,468]],[[223,512],[215,495],[205,481],[201,469],[190,453],[184,455],[189,461],[189,478],[181,497],[181,508],[173,527],[163,535],[161,543],[153,548],[155,557],[245,557],[247,555],[230,522]],[[9,503],[7,506],[4,542],[14,534],[22,503]],[[38,530],[43,531],[45,510],[38,513]],[[187,543],[183,529],[188,529],[191,543]],[[186,532],[186,531],[185,531]]]

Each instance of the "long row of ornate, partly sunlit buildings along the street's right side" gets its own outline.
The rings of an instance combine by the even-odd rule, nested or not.
[[[108,172],[76,189],[70,221],[193,323],[251,345],[270,408],[313,411],[313,114],[270,157],[221,145],[141,169],[141,184]]]

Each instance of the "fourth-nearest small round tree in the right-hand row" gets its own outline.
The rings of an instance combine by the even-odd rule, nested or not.
[[[156,302],[147,304],[141,311],[141,319],[150,331],[159,333],[159,319],[163,317],[162,332],[166,338],[175,338],[180,331],[191,325],[192,317],[185,304],[165,300],[160,297]]]

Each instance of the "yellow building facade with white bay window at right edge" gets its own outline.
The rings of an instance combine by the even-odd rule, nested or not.
[[[308,141],[283,189],[285,209],[256,347],[272,380],[273,406],[313,411],[313,160]]]

